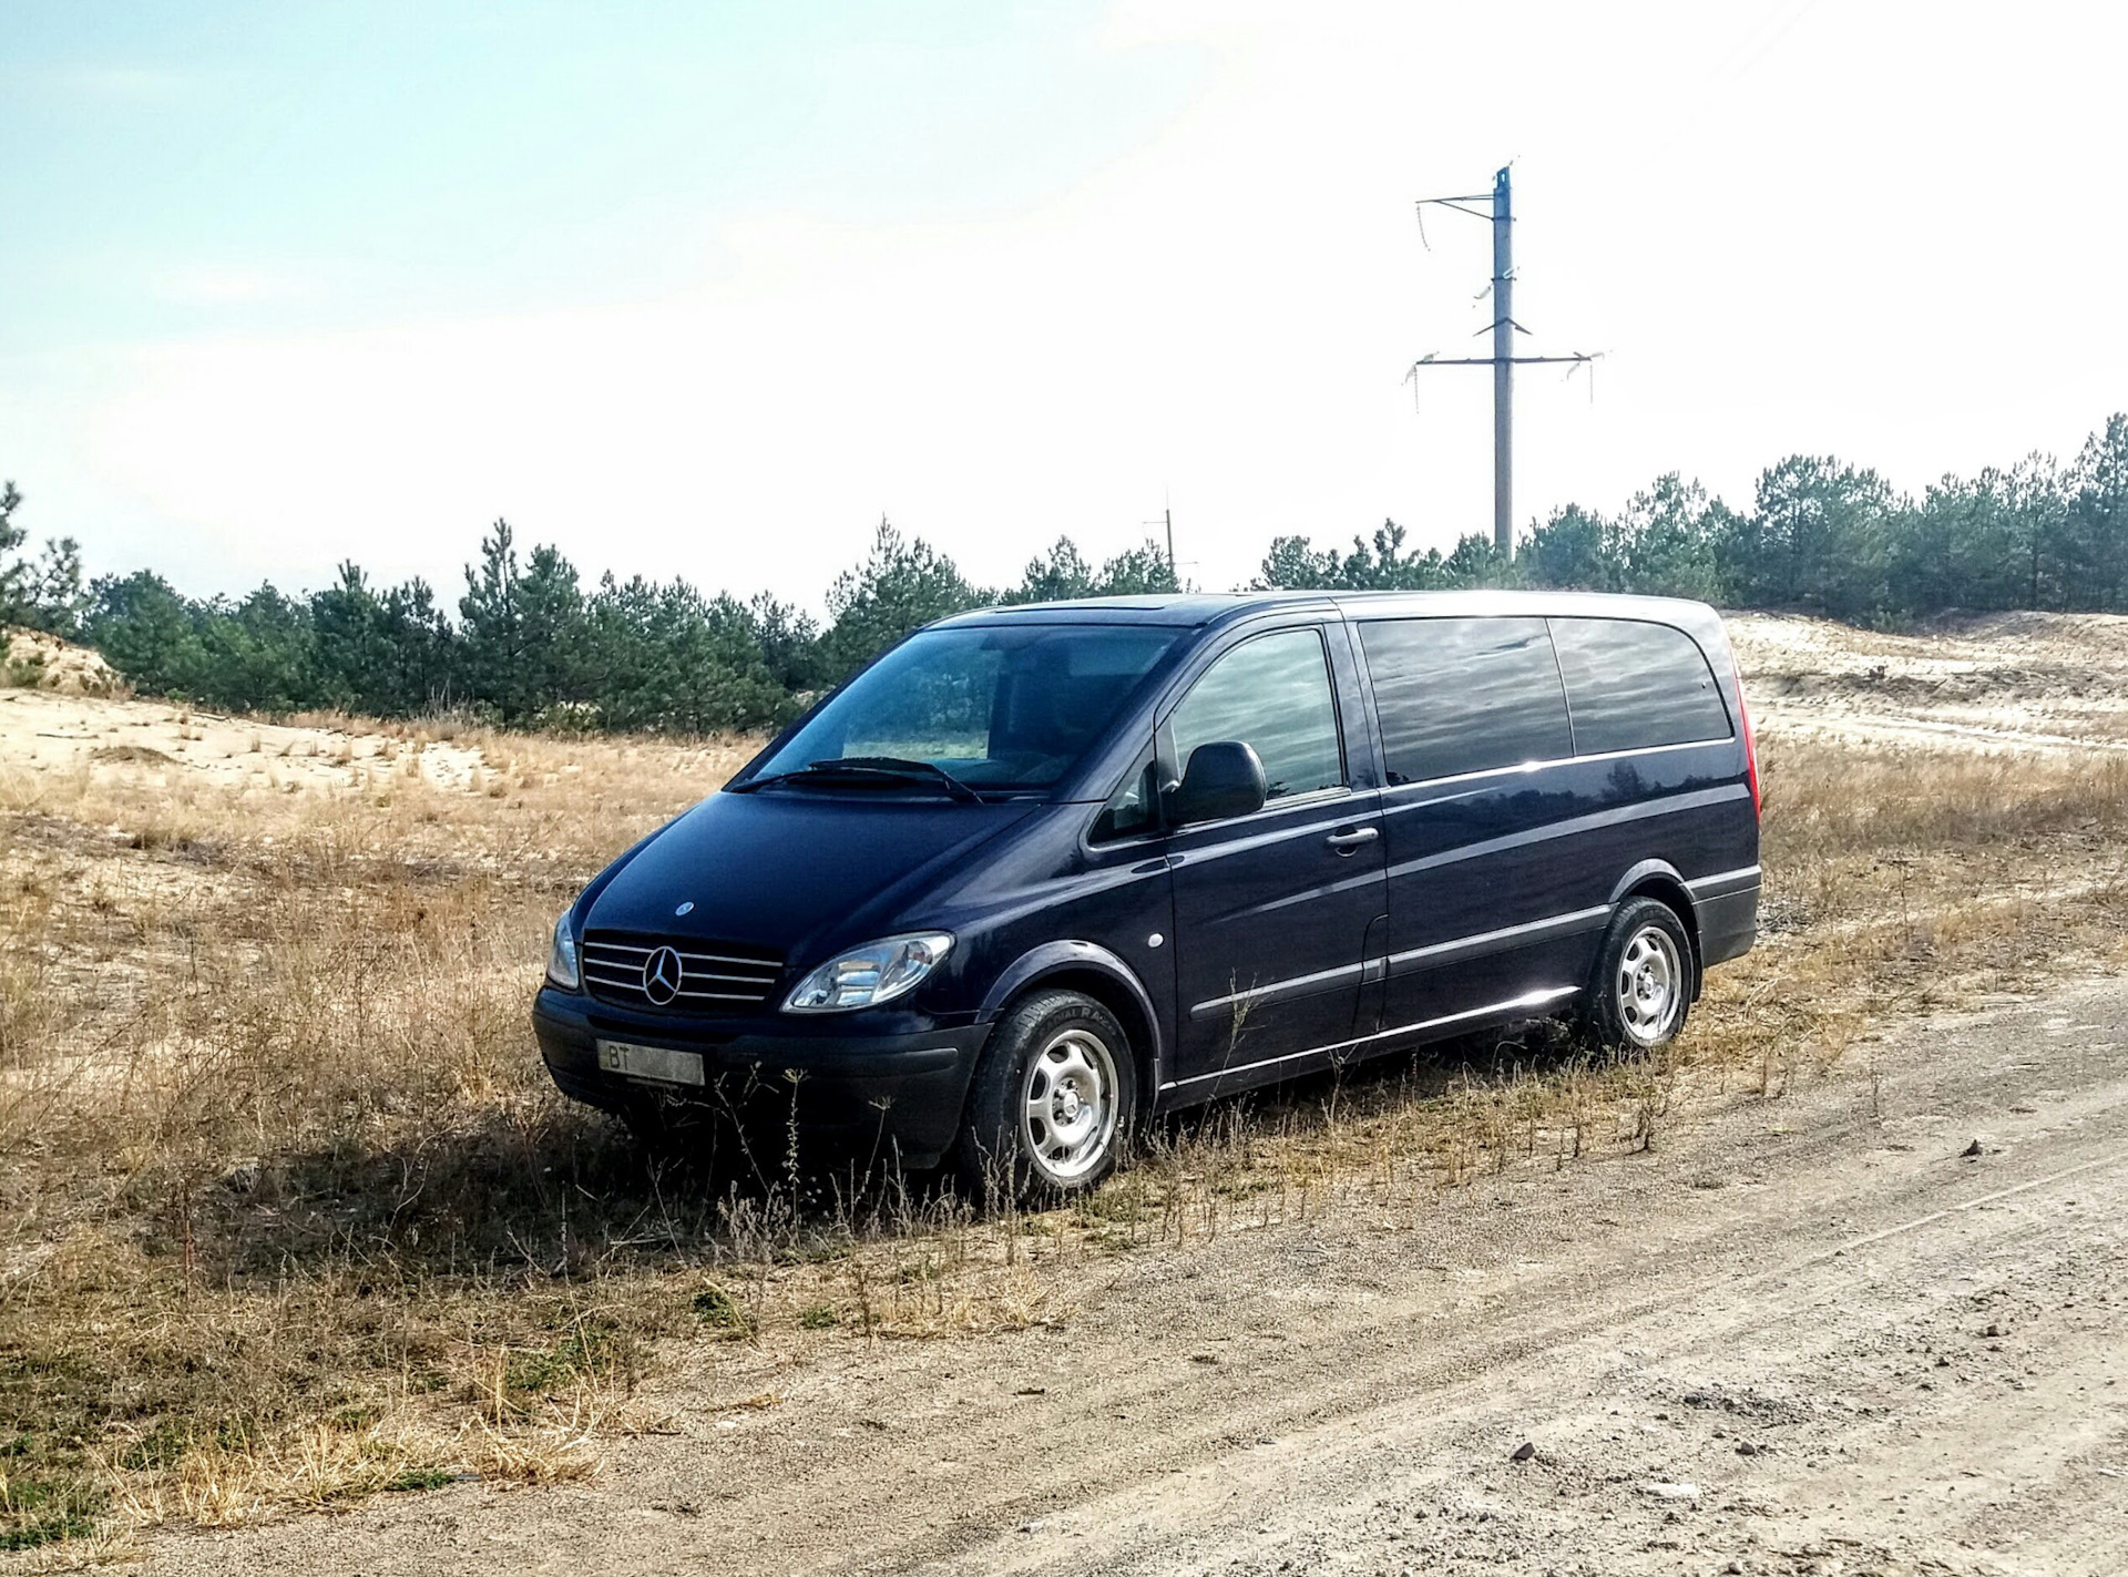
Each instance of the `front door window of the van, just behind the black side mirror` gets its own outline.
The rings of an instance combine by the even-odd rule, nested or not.
[[[1251,747],[1273,800],[1345,783],[1330,662],[1315,630],[1281,630],[1234,647],[1192,685],[1168,728],[1181,770],[1190,770],[1198,745],[1238,738]]]

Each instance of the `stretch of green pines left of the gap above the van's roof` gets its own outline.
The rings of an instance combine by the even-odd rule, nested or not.
[[[23,541],[19,502],[13,485],[0,494],[0,624],[83,641],[143,694],[228,711],[460,709],[523,728],[766,728],[947,613],[1175,590],[1149,543],[1094,568],[1070,541],[1032,560],[1019,585],[985,590],[881,521],[866,560],[828,590],[819,624],[768,594],[741,602],[681,579],[604,575],[585,587],[560,549],[519,553],[498,519],[466,566],[455,617],[426,581],[377,587],[353,562],[304,596],[260,585],[243,598],[189,598],[153,570],[83,587],[70,541],[6,562]]]

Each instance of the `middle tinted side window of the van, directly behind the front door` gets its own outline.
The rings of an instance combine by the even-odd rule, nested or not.
[[[1360,626],[1392,783],[1573,756],[1543,619]]]

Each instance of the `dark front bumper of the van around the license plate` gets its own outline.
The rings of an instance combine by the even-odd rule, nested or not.
[[[577,992],[532,1000],[541,1058],[562,1094],[604,1111],[692,1105],[783,1122],[800,1143],[862,1162],[936,1166],[960,1132],[987,1024],[898,1034],[766,1034],[758,1026],[628,1013]],[[632,1079],[598,1066],[600,1041],[696,1051],[704,1083]]]

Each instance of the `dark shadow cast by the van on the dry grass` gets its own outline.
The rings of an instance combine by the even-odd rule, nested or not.
[[[1243,1134],[1311,1141],[1583,1056],[1553,1026],[1445,1041],[1175,1113],[1153,1124],[1147,1149]],[[804,1256],[975,1215],[936,1173],[807,1153],[789,1130],[709,1122],[649,1145],[604,1113],[543,1098],[398,1143],[245,1162],[185,1190],[157,1234],[213,1281],[330,1266],[404,1283]]]

